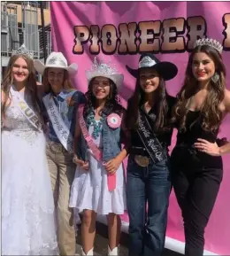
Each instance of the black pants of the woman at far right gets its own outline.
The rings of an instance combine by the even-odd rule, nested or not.
[[[184,221],[185,255],[203,256],[204,229],[219,192],[223,169],[173,163],[173,189]]]

